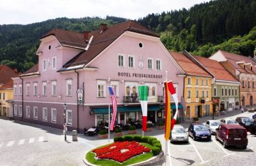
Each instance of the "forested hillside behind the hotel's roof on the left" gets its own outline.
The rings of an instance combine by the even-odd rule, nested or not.
[[[38,57],[35,53],[40,43],[39,39],[51,29],[58,27],[82,33],[99,29],[103,22],[111,26],[125,20],[107,16],[106,19],[99,17],[58,18],[25,26],[0,25],[0,63],[24,72],[37,63]]]

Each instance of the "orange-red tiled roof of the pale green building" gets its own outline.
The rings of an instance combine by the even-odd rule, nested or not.
[[[218,63],[218,61],[214,61],[212,59],[202,57],[202,56],[193,56],[197,61],[199,61],[209,72],[214,75],[216,80],[227,80],[238,82],[236,78],[234,78],[225,68]]]

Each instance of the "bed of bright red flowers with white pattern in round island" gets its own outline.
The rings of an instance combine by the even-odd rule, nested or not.
[[[93,150],[96,154],[96,158],[115,160],[116,162],[125,162],[134,156],[141,155],[143,153],[148,153],[150,149],[141,145],[139,142],[124,141],[115,142],[109,146],[102,147]]]

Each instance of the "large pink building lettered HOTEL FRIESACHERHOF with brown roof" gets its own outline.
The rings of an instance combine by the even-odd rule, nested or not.
[[[101,24],[91,33],[52,29],[40,41],[38,64],[13,78],[14,119],[63,128],[67,103],[68,130],[108,123],[110,84],[116,89],[117,123],[137,121],[138,85],[146,84],[148,120],[157,122],[164,116],[166,73],[182,100],[184,71],[157,34],[132,20],[111,27]],[[77,89],[83,89],[79,104]]]

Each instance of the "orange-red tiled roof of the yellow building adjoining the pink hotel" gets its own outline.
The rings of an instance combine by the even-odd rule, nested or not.
[[[193,75],[198,77],[212,77],[209,73],[205,72],[202,68],[200,68],[200,66],[195,64],[184,54],[174,52],[174,51],[169,51],[169,52],[187,75]]]

